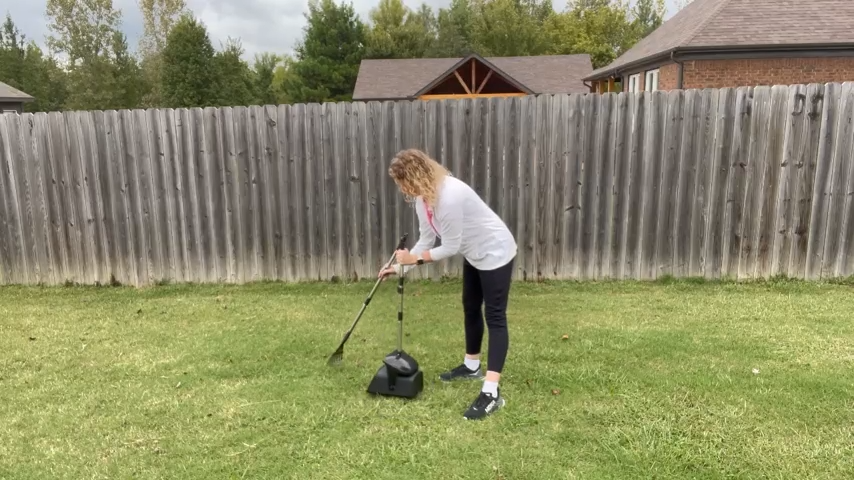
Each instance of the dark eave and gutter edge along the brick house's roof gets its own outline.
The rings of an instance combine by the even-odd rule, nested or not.
[[[662,60],[673,59],[676,54],[694,55],[718,55],[725,57],[727,54],[740,53],[797,53],[804,51],[854,51],[854,42],[851,43],[804,43],[804,44],[756,44],[756,45],[724,45],[724,46],[699,46],[699,47],[676,47],[665,50],[654,55],[649,55],[637,60],[619,65],[617,67],[605,67],[599,69],[599,73],[592,73],[582,80],[585,82],[603,80],[619,76],[627,70],[633,70],[641,65],[646,65]],[[683,59],[680,59],[683,60]]]

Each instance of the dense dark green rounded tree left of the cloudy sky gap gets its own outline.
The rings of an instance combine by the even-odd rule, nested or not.
[[[163,47],[160,92],[163,106],[208,107],[218,103],[216,52],[205,26],[185,14]]]

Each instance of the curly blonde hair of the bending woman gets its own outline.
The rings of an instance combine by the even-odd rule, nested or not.
[[[408,200],[422,197],[435,207],[439,185],[451,173],[426,153],[410,148],[394,156],[388,174]]]

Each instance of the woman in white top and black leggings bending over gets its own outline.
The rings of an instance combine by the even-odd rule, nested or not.
[[[397,265],[381,277],[400,274],[416,265],[438,262],[460,253],[463,263],[463,310],[466,354],[463,363],[440,375],[444,381],[484,379],[480,350],[483,342],[485,305],[489,328],[488,370],[480,394],[465,412],[466,419],[484,418],[502,406],[498,382],[507,356],[507,297],[516,258],[513,234],[464,182],[420,150],[404,150],[395,156],[389,175],[400,191],[414,199],[420,225],[418,243],[396,254]],[[441,245],[434,247],[436,239]]]

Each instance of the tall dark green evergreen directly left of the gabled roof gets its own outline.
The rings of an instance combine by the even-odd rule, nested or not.
[[[287,94],[299,103],[350,101],[365,51],[365,25],[352,4],[310,0],[308,8]]]

